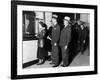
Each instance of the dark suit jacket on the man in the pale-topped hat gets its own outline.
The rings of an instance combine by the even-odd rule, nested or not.
[[[68,46],[70,41],[71,41],[71,27],[67,26],[67,27],[64,27],[61,31],[59,45]]]

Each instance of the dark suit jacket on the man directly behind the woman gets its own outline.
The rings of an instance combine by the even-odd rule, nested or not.
[[[58,24],[56,24],[53,28],[52,28],[52,40],[51,40],[51,44],[54,45],[54,43],[59,43],[59,37],[60,37],[60,26]]]

